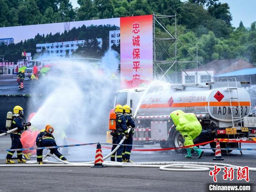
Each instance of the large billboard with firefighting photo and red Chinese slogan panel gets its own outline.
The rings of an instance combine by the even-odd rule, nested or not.
[[[78,63],[111,79],[119,89],[140,87],[153,77],[152,22],[152,15],[145,15],[2,27],[0,94],[42,93],[50,83],[42,88],[35,81],[60,73],[66,65],[75,77],[90,76]]]

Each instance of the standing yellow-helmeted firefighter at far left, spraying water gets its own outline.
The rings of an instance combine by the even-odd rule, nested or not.
[[[18,130],[11,132],[10,136],[12,139],[12,146],[10,149],[20,149],[23,148],[22,143],[20,142],[20,135],[21,131],[27,130],[27,127],[31,125],[30,122],[22,123],[22,117],[23,117],[23,109],[20,106],[15,106],[13,109],[13,121],[12,121],[12,127],[11,129],[18,128]],[[13,156],[15,151],[10,151],[7,153],[6,156],[6,163],[7,164],[13,164],[15,161],[12,161],[11,158]],[[22,151],[17,151],[17,157],[18,157],[18,162],[26,162],[22,158]]]

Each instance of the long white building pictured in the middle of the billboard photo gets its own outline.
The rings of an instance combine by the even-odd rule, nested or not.
[[[97,38],[97,41],[98,46],[102,47],[102,39]],[[84,42],[85,40],[41,43],[37,44],[37,52],[41,52],[44,48],[49,55],[64,57],[66,55],[66,52],[68,52],[69,55],[72,55],[72,53],[77,50],[78,46],[82,46]]]

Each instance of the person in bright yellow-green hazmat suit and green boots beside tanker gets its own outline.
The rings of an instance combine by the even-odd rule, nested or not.
[[[170,117],[172,118],[174,125],[176,125],[176,130],[180,132],[184,138],[184,145],[194,145],[193,140],[202,132],[202,126],[197,120],[196,115],[193,113],[184,113],[182,110],[176,110],[170,114]],[[188,153],[185,156],[186,158],[191,158],[191,148],[198,154],[198,158],[202,157],[204,152],[196,146],[193,146],[186,148]]]

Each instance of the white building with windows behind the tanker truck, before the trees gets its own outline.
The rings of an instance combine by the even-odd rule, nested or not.
[[[196,70],[185,70],[188,75],[185,74],[184,71],[181,72],[182,75],[182,83],[196,83]],[[203,69],[197,70],[197,83],[206,83],[213,81],[211,77],[213,77],[214,70],[208,69],[207,72],[210,74],[208,75],[207,72]]]

